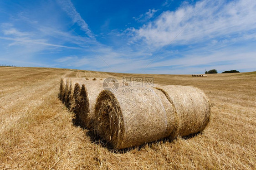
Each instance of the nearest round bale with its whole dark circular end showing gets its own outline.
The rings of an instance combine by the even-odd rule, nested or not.
[[[103,90],[95,106],[95,129],[115,149],[139,146],[156,141],[169,133],[165,108],[149,88],[137,87],[138,92]],[[141,92],[141,91],[144,92]],[[147,92],[145,92],[147,91]]]

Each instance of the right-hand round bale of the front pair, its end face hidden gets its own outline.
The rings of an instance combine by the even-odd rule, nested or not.
[[[191,86],[158,87],[173,102],[177,112],[176,136],[203,131],[209,122],[210,104],[205,93]]]

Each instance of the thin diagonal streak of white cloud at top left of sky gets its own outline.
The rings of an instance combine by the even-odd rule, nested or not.
[[[89,29],[88,24],[82,19],[81,15],[77,12],[71,0],[57,0],[62,9],[72,18],[73,23],[77,23],[81,30],[84,31],[89,37],[94,38],[92,31]]]

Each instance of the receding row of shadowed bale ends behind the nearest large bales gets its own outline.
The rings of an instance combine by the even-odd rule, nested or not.
[[[93,107],[102,88],[102,78],[62,78],[59,98],[76,115],[77,124],[93,128]],[[91,104],[90,104],[91,103]]]

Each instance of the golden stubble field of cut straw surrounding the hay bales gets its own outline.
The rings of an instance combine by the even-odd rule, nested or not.
[[[61,77],[152,76],[199,87],[210,99],[202,134],[112,151],[72,123],[58,99]],[[256,169],[256,72],[191,75],[0,67],[0,169]]]

